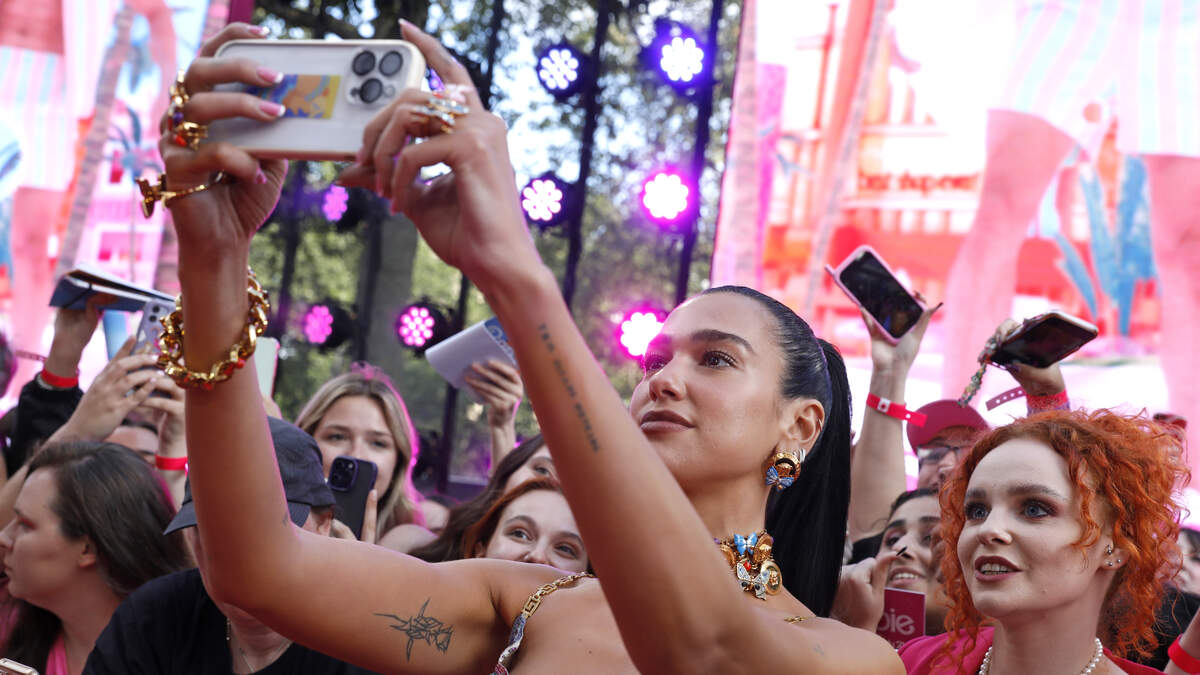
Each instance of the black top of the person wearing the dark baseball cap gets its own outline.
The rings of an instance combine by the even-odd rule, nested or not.
[[[226,617],[198,569],[149,581],[121,603],[96,640],[84,675],[229,675]],[[292,645],[263,675],[370,675],[301,645]]]

